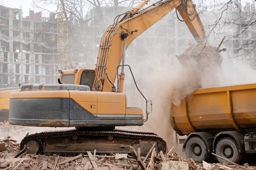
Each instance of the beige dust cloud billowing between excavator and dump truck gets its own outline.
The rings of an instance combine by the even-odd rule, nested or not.
[[[172,129],[171,104],[180,104],[180,100],[192,94],[198,88],[237,85],[256,82],[256,74],[244,60],[238,58],[223,58],[214,46],[193,45],[189,47],[172,67],[163,67],[157,61],[150,59],[143,65],[153,68],[153,74],[143,79],[146,84],[148,99],[152,99],[153,112],[148,121],[141,127],[120,127],[128,130],[145,130],[157,133],[166,140],[168,148],[174,146],[174,151],[182,154],[182,144],[177,144],[176,133]],[[221,64],[222,63],[222,64]],[[149,83],[150,82],[150,83]],[[129,96],[128,96],[129,99]],[[178,136],[179,139],[186,136]]]

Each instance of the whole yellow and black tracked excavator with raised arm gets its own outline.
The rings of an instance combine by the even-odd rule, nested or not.
[[[155,133],[114,129],[143,125],[148,120],[148,106],[152,107],[142,93],[146,102],[145,118],[142,109],[127,105],[123,93],[124,68],[131,74],[132,71],[125,64],[125,50],[136,37],[175,8],[197,42],[207,43],[207,39],[191,0],[159,0],[143,8],[148,1],[143,0],[136,8],[115,17],[102,36],[95,70],[59,70],[59,84],[25,84],[20,91],[11,93],[11,125],[76,127],[24,137],[20,147],[25,147],[27,153],[67,156],[94,149],[97,153],[130,153],[129,147],[133,146],[140,147],[143,156],[154,143],[158,152],[166,152],[165,140]],[[135,79],[134,83],[137,87]]]

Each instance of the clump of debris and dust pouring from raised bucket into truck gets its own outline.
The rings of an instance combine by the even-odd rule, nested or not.
[[[176,56],[180,62],[180,74],[174,82],[172,102],[179,105],[187,95],[198,88],[220,85],[222,57],[215,46],[193,44],[183,54]]]

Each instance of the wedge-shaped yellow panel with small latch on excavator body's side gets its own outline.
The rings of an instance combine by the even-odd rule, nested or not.
[[[92,91],[69,91],[73,99],[82,108],[92,114],[97,114],[97,93]]]

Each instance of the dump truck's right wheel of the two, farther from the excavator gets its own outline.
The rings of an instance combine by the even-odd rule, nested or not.
[[[216,144],[216,154],[218,156],[221,156],[225,159],[228,159],[236,164],[239,164],[242,159],[242,153],[239,153],[238,145],[236,144],[236,141],[231,138],[223,138],[218,141]],[[223,164],[227,163],[230,164],[228,161],[225,161],[223,159],[218,158],[218,161]]]

